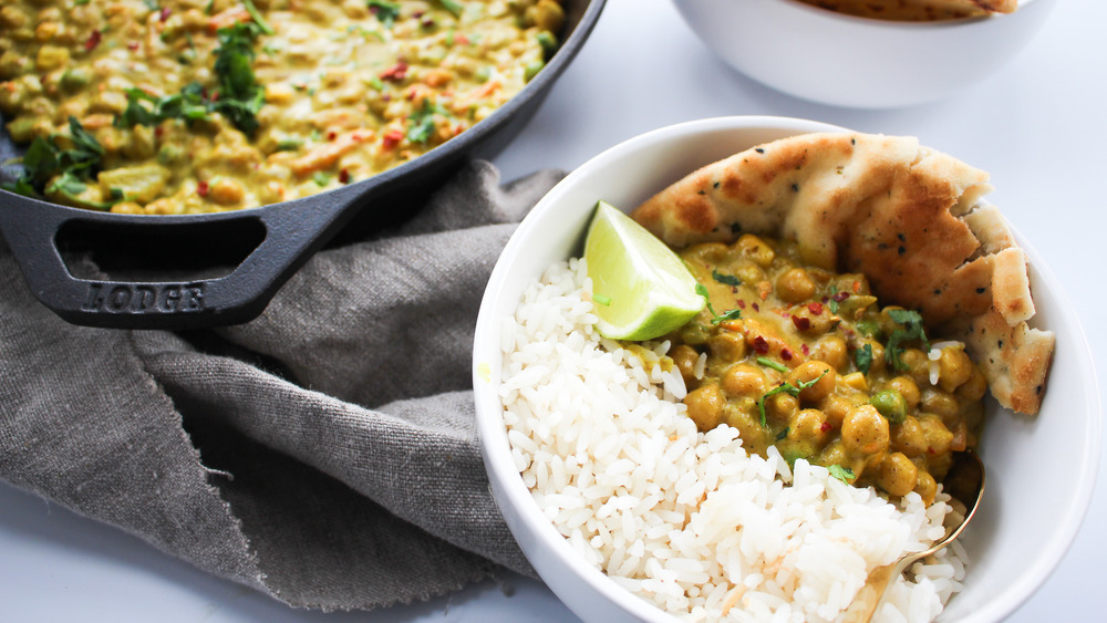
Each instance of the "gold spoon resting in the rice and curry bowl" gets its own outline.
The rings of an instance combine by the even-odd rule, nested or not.
[[[873,569],[865,580],[865,585],[857,592],[852,603],[846,610],[845,623],[867,623],[870,621],[872,614],[884,602],[884,593],[892,580],[899,578],[917,561],[941,550],[961,536],[961,531],[969,525],[969,520],[972,519],[980,506],[981,498],[984,497],[984,464],[981,463],[976,453],[965,450],[954,455],[953,465],[945,476],[943,489],[965,505],[964,521],[953,526],[945,533],[945,538],[935,542],[930,549],[910,553],[897,562]]]

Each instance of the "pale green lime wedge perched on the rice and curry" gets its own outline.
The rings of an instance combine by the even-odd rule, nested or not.
[[[614,206],[599,201],[584,261],[596,328],[615,340],[652,340],[681,328],[706,304],[684,261]]]

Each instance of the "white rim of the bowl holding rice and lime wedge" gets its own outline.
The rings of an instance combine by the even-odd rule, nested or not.
[[[497,393],[499,380],[496,377],[499,361],[501,361],[503,356],[498,344],[500,343],[499,328],[504,319],[494,316],[493,313],[496,311],[496,302],[503,298],[503,290],[508,287],[507,280],[509,264],[511,263],[510,259],[515,258],[526,248],[525,246],[528,242],[525,238],[532,236],[530,233],[531,230],[540,229],[544,225],[541,222],[542,215],[552,212],[554,207],[562,200],[566,194],[571,191],[578,179],[588,176],[593,169],[602,169],[611,160],[620,159],[640,149],[646,149],[656,143],[679,139],[705,132],[736,131],[739,128],[795,131],[793,134],[820,131],[849,131],[849,128],[811,120],[767,115],[736,115],[681,122],[659,127],[618,143],[580,165],[536,204],[511,235],[500,255],[500,259],[496,262],[478,312],[477,326],[474,334],[473,383],[480,451],[485,459],[489,485],[497,506],[503,510],[506,503],[503,498],[506,497],[511,508],[519,513],[523,527],[528,530],[532,529],[531,533],[520,534],[518,528],[509,519],[508,525],[513,536],[520,541],[520,546],[524,544],[524,541],[532,547],[537,542],[539,547],[542,547],[545,551],[555,557],[561,564],[571,569],[599,593],[610,599],[624,614],[630,613],[641,620],[674,621],[675,616],[632,594],[606,573],[584,562],[583,558],[575,552],[569,541],[555,528],[552,521],[534,502],[529,489],[523,482],[514,465],[509,449],[510,444],[503,420],[503,403]],[[982,604],[983,608],[975,609],[963,619],[963,621],[971,622],[997,621],[1010,615],[1028,600],[1054,572],[1059,561],[1070,549],[1088,512],[1101,451],[1101,404],[1094,368],[1094,359],[1092,357],[1092,350],[1086,334],[1065,292],[1053,285],[1058,282],[1048,266],[1014,227],[1012,227],[1012,231],[1020,246],[1031,258],[1032,268],[1037,273],[1038,279],[1051,284],[1049,289],[1056,298],[1057,307],[1062,309],[1062,318],[1055,322],[1067,325],[1068,330],[1074,332],[1074,335],[1078,338],[1074,340],[1074,344],[1066,344],[1065,347],[1073,349],[1070,356],[1077,357],[1080,363],[1087,362],[1087,366],[1084,370],[1088,376],[1084,380],[1083,385],[1085,388],[1084,401],[1087,405],[1089,417],[1087,418],[1085,430],[1083,430],[1084,444],[1080,446],[1080,450],[1083,451],[1084,463],[1080,465],[1082,469],[1079,470],[1078,482],[1074,489],[1075,495],[1067,500],[1068,506],[1064,509],[1066,511],[1064,517],[1054,523],[1056,530],[1052,532],[1048,539],[1043,540],[1041,543],[1044,548],[1048,549],[1048,555],[1044,560],[1039,557],[1038,560],[1035,560],[1038,563],[1035,565],[1035,569],[1022,573],[1018,577],[1018,581],[1007,585],[1001,593],[991,595],[987,602]],[[490,362],[494,361],[496,363],[490,368],[489,365],[493,365]],[[509,513],[505,513],[505,518],[508,519]],[[524,551],[528,553],[529,559],[528,550],[524,548]],[[541,573],[539,574],[541,575]],[[547,581],[547,583],[549,582]],[[566,600],[562,599],[562,601]],[[569,604],[567,603],[567,605]],[[570,608],[572,606],[570,605]],[[582,617],[586,616],[586,613],[577,612],[577,614]],[[942,619],[940,617],[939,620]]]

